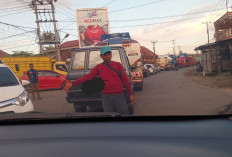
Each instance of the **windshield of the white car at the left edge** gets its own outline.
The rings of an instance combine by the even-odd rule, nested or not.
[[[15,75],[7,67],[0,67],[0,87],[19,85]]]

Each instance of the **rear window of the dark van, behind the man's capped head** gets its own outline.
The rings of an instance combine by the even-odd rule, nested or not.
[[[112,61],[120,62],[121,58],[118,50],[112,51]],[[102,63],[102,58],[100,57],[100,51],[90,51],[89,54],[89,69],[93,69],[97,64]]]

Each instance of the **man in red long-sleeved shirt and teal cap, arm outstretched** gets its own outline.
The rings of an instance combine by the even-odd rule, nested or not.
[[[102,106],[104,112],[118,112],[122,115],[128,115],[128,104],[123,93],[122,83],[130,94],[132,105],[135,105],[135,99],[126,72],[121,63],[111,61],[112,52],[109,46],[101,47],[100,56],[103,63],[96,65],[89,74],[72,83],[68,83],[65,90],[68,92],[72,86],[82,84],[87,80],[99,76],[105,84],[102,90]]]

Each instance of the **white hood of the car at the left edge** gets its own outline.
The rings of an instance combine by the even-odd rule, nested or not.
[[[0,87],[0,102],[18,97],[24,91],[23,86]]]

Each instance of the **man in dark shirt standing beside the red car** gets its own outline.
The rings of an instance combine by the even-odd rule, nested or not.
[[[30,69],[27,71],[27,75],[29,77],[30,81],[30,86],[32,89],[32,100],[35,100],[35,93],[37,93],[37,97],[39,100],[42,98],[40,97],[40,92],[39,92],[39,78],[38,78],[38,71],[34,69],[34,65],[30,64],[29,65]]]

